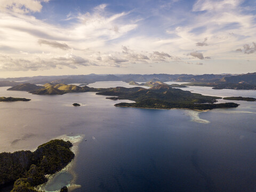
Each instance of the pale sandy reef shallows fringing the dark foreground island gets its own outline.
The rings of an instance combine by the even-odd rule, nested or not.
[[[76,136],[61,135],[54,139],[62,139],[64,141],[70,141],[73,144],[73,146],[70,148],[70,150],[75,154],[75,157],[76,157],[78,154],[79,143],[83,140],[83,138],[84,138],[84,135],[76,135]],[[68,185],[66,185],[68,188],[68,191],[72,191],[74,189],[81,188],[81,185],[77,185],[75,183],[76,178],[77,178],[77,175],[74,171],[75,164],[76,164],[76,158],[72,159],[72,161],[66,167],[64,167],[62,170],[58,171],[57,173],[45,175],[46,178],[48,179],[48,181],[43,183],[42,185],[36,186],[35,188],[39,191],[43,190],[45,192],[59,192],[61,188],[56,189],[56,190],[46,190],[46,189],[49,185],[54,185],[54,183],[52,183],[53,180],[55,178],[59,177],[63,173],[68,173],[72,176],[72,179],[69,181]],[[63,187],[63,186],[61,186],[61,187]]]

